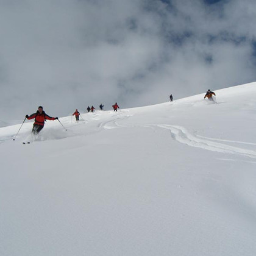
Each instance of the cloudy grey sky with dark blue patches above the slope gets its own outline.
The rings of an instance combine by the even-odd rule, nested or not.
[[[253,82],[255,24],[254,0],[0,0],[0,120]]]

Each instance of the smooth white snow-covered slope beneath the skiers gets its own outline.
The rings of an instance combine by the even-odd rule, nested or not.
[[[215,93],[0,128],[0,255],[255,255],[256,83]]]

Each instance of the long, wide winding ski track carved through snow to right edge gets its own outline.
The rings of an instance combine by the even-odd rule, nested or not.
[[[185,127],[182,126],[173,126],[169,124],[144,124],[144,125],[133,125],[133,126],[124,126],[120,125],[117,122],[121,119],[127,118],[131,115],[126,116],[120,116],[118,119],[115,119],[115,121],[108,121],[105,123],[101,123],[99,127],[102,127],[104,129],[116,129],[118,127],[148,127],[148,128],[155,128],[159,127],[162,129],[167,129],[171,133],[171,137],[182,144],[187,144],[191,147],[201,148],[208,151],[215,151],[215,152],[221,152],[221,153],[228,153],[228,154],[236,154],[236,155],[243,155],[245,157],[251,157],[256,158],[256,151],[248,150],[248,149],[242,149],[235,146],[229,146],[227,144],[219,143],[216,141],[226,141],[226,142],[233,142],[233,143],[243,143],[243,144],[252,144],[254,143],[246,143],[242,141],[229,141],[229,140],[219,140],[214,138],[207,138],[202,136],[195,136],[188,132]]]

